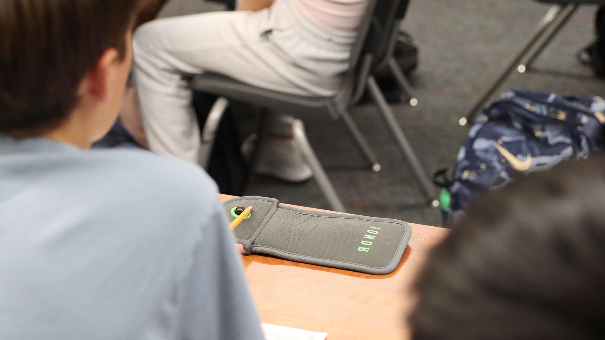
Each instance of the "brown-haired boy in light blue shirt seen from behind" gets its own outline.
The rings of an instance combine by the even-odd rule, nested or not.
[[[197,166],[87,151],[114,120],[137,0],[0,1],[0,339],[262,339]]]

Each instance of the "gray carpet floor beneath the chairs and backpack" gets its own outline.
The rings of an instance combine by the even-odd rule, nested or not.
[[[412,79],[419,105],[392,108],[428,174],[453,166],[468,132],[457,124],[459,118],[520,50],[548,8],[530,0],[411,1],[403,27],[420,48],[420,65]],[[208,9],[209,4],[203,1],[172,0],[163,15]],[[593,6],[580,8],[537,60],[538,70],[514,74],[501,91],[533,88],[605,95],[605,82],[592,77],[590,69],[574,57],[593,38],[595,10]],[[352,110],[352,116],[378,154],[382,165],[379,173],[359,168],[362,159],[341,124],[307,124],[311,143],[345,206],[356,214],[439,226],[439,210],[425,205],[376,108],[361,105]],[[288,185],[259,177],[247,194],[329,209],[313,180]]]

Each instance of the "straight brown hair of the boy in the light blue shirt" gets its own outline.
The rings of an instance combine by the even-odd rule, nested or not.
[[[45,132],[110,48],[124,59],[138,0],[0,1],[0,132]]]

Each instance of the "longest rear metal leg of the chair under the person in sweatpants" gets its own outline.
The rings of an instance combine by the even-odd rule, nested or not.
[[[420,184],[420,189],[422,190],[422,194],[427,198],[431,208],[439,207],[439,200],[436,200],[433,184],[428,179],[427,174],[422,169],[420,165],[420,161],[412,149],[410,142],[405,137],[404,131],[402,131],[401,126],[395,119],[395,115],[391,110],[390,106],[388,106],[387,100],[382,94],[382,91],[378,87],[378,83],[376,83],[376,79],[373,76],[368,77],[368,91],[370,91],[370,95],[374,99],[374,102],[378,105],[380,109],[380,113],[387,123],[388,128],[390,128],[391,133],[393,133],[393,137],[397,140],[397,145],[403,151],[405,158],[411,166],[412,172],[416,176],[418,183]]]

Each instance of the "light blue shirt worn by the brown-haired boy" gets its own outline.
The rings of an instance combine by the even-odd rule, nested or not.
[[[0,136],[0,339],[261,338],[197,166]]]

